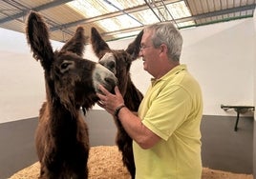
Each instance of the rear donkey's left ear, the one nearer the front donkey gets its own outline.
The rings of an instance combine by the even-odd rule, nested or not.
[[[102,39],[96,28],[91,30],[91,43],[98,58],[101,58],[105,51],[110,50],[108,44]]]

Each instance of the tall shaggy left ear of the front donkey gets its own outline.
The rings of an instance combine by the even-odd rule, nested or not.
[[[50,70],[53,63],[53,48],[49,40],[48,28],[43,18],[34,11],[31,11],[28,17],[26,34],[33,57],[41,61],[45,70]]]

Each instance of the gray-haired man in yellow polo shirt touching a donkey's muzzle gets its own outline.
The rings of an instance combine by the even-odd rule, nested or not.
[[[139,55],[154,78],[138,115],[123,98],[99,86],[100,107],[116,115],[130,137],[137,179],[201,179],[202,92],[180,64],[182,37],[171,23],[146,27]]]

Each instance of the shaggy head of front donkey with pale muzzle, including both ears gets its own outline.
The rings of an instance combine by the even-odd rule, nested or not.
[[[71,111],[81,106],[89,109],[96,103],[98,84],[109,90],[116,86],[113,72],[82,58],[87,40],[83,28],[77,28],[61,50],[53,51],[43,18],[32,11],[28,18],[27,40],[33,57],[41,62],[45,71],[48,101],[59,100]]]

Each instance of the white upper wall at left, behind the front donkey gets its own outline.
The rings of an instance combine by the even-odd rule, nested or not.
[[[0,29],[0,39],[0,123],[38,116],[45,100],[41,64],[32,58],[25,34]]]

